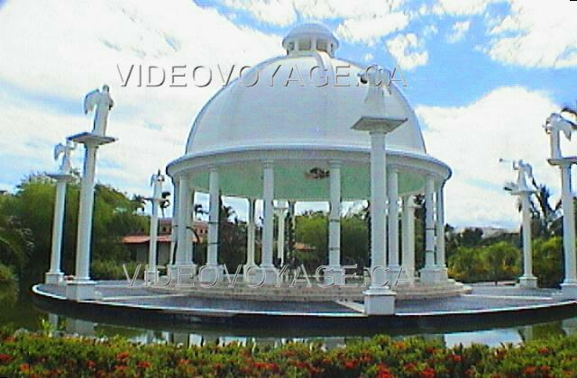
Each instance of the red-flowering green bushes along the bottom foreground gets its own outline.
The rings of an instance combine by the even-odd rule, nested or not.
[[[448,348],[386,336],[326,351],[320,344],[182,347],[123,338],[49,338],[0,332],[0,376],[69,377],[557,377],[577,376],[577,337],[519,347]]]

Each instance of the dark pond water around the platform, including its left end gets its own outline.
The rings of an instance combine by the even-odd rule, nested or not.
[[[354,335],[347,337],[316,337],[315,335],[298,335],[298,337],[281,334],[270,336],[259,330],[250,330],[239,333],[238,329],[207,329],[198,326],[190,326],[189,329],[179,327],[178,329],[160,328],[147,329],[139,327],[135,320],[135,326],[96,323],[93,321],[79,320],[71,317],[64,317],[55,313],[47,313],[37,309],[32,303],[30,293],[20,295],[5,296],[0,299],[2,311],[0,311],[0,325],[11,323],[16,328],[37,330],[41,328],[42,320],[50,321],[56,328],[67,333],[76,333],[83,336],[107,336],[115,335],[129,338],[135,342],[142,343],[181,343],[184,345],[201,345],[206,342],[227,343],[238,341],[244,343],[252,341],[260,345],[277,345],[287,341],[321,341],[325,347],[340,347],[346,344],[347,339],[356,338]],[[499,346],[503,343],[518,344],[530,339],[548,338],[553,335],[571,335],[577,333],[577,318],[566,320],[555,320],[546,323],[524,325],[519,327],[480,329],[466,332],[439,332],[421,333],[407,332],[396,334],[394,338],[405,338],[407,336],[423,336],[425,338],[439,338],[444,340],[448,347],[472,343],[485,344],[488,346]]]

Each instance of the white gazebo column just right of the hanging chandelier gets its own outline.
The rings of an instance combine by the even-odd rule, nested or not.
[[[341,267],[341,162],[329,162],[330,169],[330,212],[328,216],[328,265],[325,272],[326,284],[342,285]]]

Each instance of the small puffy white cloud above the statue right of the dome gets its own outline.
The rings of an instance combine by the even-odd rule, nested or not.
[[[423,41],[414,33],[399,34],[387,40],[387,49],[403,70],[423,66],[429,59]]]

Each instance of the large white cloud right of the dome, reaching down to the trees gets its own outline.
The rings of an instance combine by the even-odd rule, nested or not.
[[[499,157],[531,163],[537,181],[558,193],[559,174],[546,163],[549,138],[541,127],[553,111],[558,106],[546,94],[517,86],[500,87],[463,107],[417,107],[426,126],[427,152],[453,169],[446,186],[449,222],[518,224],[516,199],[501,189],[516,175],[509,165],[498,163]],[[577,148],[563,145],[563,153],[575,152]]]

